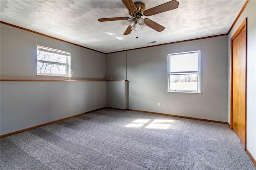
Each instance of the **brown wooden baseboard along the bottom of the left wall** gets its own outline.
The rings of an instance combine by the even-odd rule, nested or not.
[[[70,118],[73,118],[73,117],[78,117],[78,116],[81,116],[81,115],[84,115],[84,114],[87,114],[87,113],[91,113],[91,112],[95,112],[95,111],[98,111],[98,110],[101,110],[101,109],[104,109],[106,107],[102,107],[100,109],[95,109],[95,110],[92,110],[92,111],[88,111],[88,112],[85,112],[85,113],[80,113],[78,115],[74,115],[74,116],[70,116],[70,117],[66,117],[66,118],[63,118],[63,119],[58,119],[56,121],[51,121],[51,122],[48,122],[48,123],[43,123],[41,125],[36,125],[34,127],[29,127],[29,128],[24,128],[22,130],[17,130],[15,132],[10,132],[10,133],[7,133],[7,134],[2,134],[0,135],[0,138],[4,138],[4,137],[7,137],[7,136],[11,136],[13,134],[17,134],[17,133],[21,133],[21,132],[25,132],[25,131],[28,131],[28,130],[32,130],[34,128],[39,128],[39,127],[43,127],[43,126],[46,126],[46,125],[50,125],[50,124],[53,124],[53,123],[56,123],[56,122],[60,122],[60,121],[64,121],[66,119],[70,119]]]

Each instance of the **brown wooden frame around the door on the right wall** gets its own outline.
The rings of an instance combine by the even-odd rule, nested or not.
[[[233,130],[233,41],[245,28],[246,42],[245,42],[245,150],[246,150],[246,126],[247,126],[247,111],[246,111],[246,100],[247,100],[247,18],[238,27],[234,35],[230,39],[230,53],[231,53],[231,84],[230,84],[230,129]]]

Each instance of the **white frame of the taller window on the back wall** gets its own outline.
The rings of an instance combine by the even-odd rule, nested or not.
[[[198,71],[170,71],[170,62],[172,55],[184,55],[184,54],[191,54],[191,53],[198,53]],[[178,92],[178,93],[201,93],[201,50],[197,51],[188,51],[188,52],[180,52],[180,53],[170,53],[168,56],[168,87],[167,92]],[[170,87],[170,80],[171,75],[178,75],[178,74],[197,74],[197,91],[195,90],[174,90]]]

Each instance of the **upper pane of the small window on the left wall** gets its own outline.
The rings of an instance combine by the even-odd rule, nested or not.
[[[61,55],[59,53],[50,53],[48,51],[37,50],[37,59],[58,63],[66,63],[66,55]]]

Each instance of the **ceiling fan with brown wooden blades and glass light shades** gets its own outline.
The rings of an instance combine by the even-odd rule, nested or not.
[[[164,27],[156,22],[148,19],[148,18],[141,18],[142,16],[152,16],[155,14],[159,14],[162,12],[170,11],[173,9],[178,8],[179,2],[176,0],[172,0],[170,2],[166,2],[164,4],[155,6],[146,10],[145,4],[141,2],[132,2],[132,0],[122,0],[124,5],[129,11],[130,16],[132,17],[115,17],[115,18],[100,18],[98,21],[105,22],[105,21],[116,21],[116,20],[128,20],[128,28],[124,32],[124,35],[128,35],[132,32],[132,30],[137,30],[138,25],[140,28],[145,28],[146,26],[161,32],[164,30]]]

